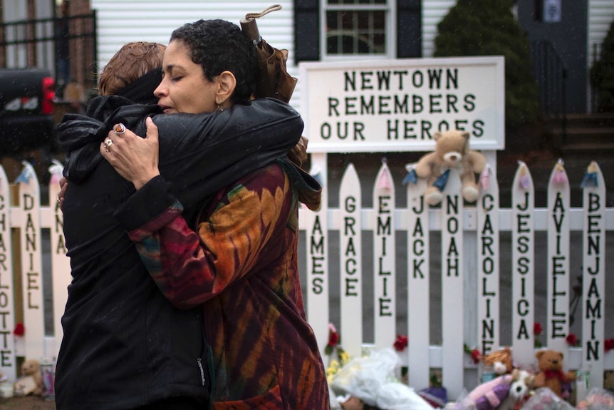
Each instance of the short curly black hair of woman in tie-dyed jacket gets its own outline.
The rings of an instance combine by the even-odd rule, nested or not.
[[[205,78],[212,81],[222,71],[236,78],[232,101],[248,100],[256,86],[256,47],[236,24],[212,19],[187,23],[175,29],[170,41],[182,41],[192,53],[192,61],[202,66]]]

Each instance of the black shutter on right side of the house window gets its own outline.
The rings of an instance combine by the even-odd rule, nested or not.
[[[397,58],[422,57],[421,4],[421,0],[397,0]]]

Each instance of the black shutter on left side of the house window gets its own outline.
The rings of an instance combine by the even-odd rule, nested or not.
[[[319,0],[294,0],[294,59],[320,60]]]

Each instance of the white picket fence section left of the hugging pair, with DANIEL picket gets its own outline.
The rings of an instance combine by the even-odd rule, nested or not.
[[[18,358],[48,360],[57,357],[62,339],[61,314],[71,266],[66,257],[63,215],[56,201],[62,165],[51,167],[48,201],[42,201],[36,173],[29,163],[16,179],[6,178],[0,166],[0,371],[14,381]],[[41,203],[49,203],[44,207]],[[43,230],[50,242],[43,244]],[[47,235],[46,235],[47,236]],[[44,246],[43,246],[44,245]],[[54,334],[45,334],[46,301],[43,292],[43,247],[51,256]],[[15,332],[22,325],[23,332]],[[15,334],[17,333],[17,334]],[[23,333],[23,334],[21,334]]]

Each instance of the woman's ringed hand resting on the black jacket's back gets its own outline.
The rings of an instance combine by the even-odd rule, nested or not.
[[[100,154],[115,168],[123,178],[129,180],[139,190],[149,180],[160,175],[158,170],[158,130],[151,118],[145,120],[147,138],[125,129],[116,132],[116,128],[125,128],[115,125],[109,131],[107,138],[100,144]],[[113,141],[113,142],[110,142]]]

